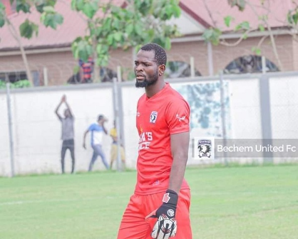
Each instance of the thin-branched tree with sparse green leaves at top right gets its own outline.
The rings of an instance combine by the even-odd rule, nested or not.
[[[209,13],[209,16],[212,19],[213,26],[210,27],[209,29],[206,29],[205,32],[203,33],[203,37],[205,38],[206,41],[213,43],[214,45],[225,45],[225,46],[236,46],[238,45],[241,41],[245,40],[248,37],[248,34],[253,32],[253,31],[261,31],[264,32],[265,30],[268,31],[269,35],[264,35],[257,46],[254,46],[252,48],[252,51],[256,55],[261,55],[261,45],[264,42],[264,40],[267,37],[270,37],[271,45],[273,48],[273,52],[275,55],[275,58],[277,60],[278,66],[280,69],[283,69],[282,63],[280,61],[278,52],[277,52],[277,47],[275,43],[275,37],[274,37],[274,32],[272,31],[272,28],[268,22],[269,16],[274,17],[270,10],[270,0],[259,0],[258,4],[255,4],[255,1],[253,0],[227,0],[227,3],[231,7],[237,7],[239,11],[243,11],[246,8],[250,8],[254,14],[256,15],[257,19],[259,20],[259,25],[258,29],[255,29],[251,27],[251,24],[249,21],[243,21],[239,22],[235,28],[234,32],[241,33],[241,36],[239,39],[237,39],[234,43],[228,43],[224,39],[221,39],[221,36],[223,35],[223,29],[221,29],[216,21],[213,18],[212,11],[209,9],[208,4],[206,0],[203,0],[205,7]],[[284,23],[284,28],[288,29],[288,34],[292,35],[294,40],[298,40],[298,1],[297,0],[291,0],[293,3],[293,9],[290,9],[288,14],[285,15],[285,19],[283,19]],[[259,14],[257,9],[263,9],[265,12],[264,14]],[[227,15],[224,17],[224,25],[229,27],[232,21],[235,21],[233,16]]]

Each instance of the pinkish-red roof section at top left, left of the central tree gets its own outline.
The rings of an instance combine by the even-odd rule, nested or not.
[[[112,2],[115,5],[124,4],[124,0],[113,0]],[[40,13],[36,9],[27,14],[20,12],[9,15],[9,20],[17,29],[26,18],[39,25],[38,37],[34,35],[31,39],[22,38],[22,44],[26,49],[70,46],[76,37],[86,34],[86,18],[83,14],[71,9],[71,0],[57,1],[55,9],[64,17],[63,24],[58,25],[56,30],[51,27],[45,27],[40,23]],[[0,28],[0,49],[18,48],[18,43],[11,36],[7,25],[4,25]]]

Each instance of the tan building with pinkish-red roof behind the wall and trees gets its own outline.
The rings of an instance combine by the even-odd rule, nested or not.
[[[26,18],[39,24],[38,37],[21,39],[35,84],[65,84],[72,77],[74,66],[78,65],[72,55],[71,44],[76,37],[85,35],[87,27],[83,15],[71,9],[70,0],[57,1],[55,8],[64,16],[64,23],[54,30],[40,23],[40,14],[36,10],[30,14],[16,13],[13,11],[13,6],[10,6],[9,0],[2,0],[2,2],[6,6],[9,20],[16,28]],[[235,6],[230,7],[227,0],[180,0],[182,14],[172,22],[178,25],[182,36],[172,39],[172,48],[167,53],[168,61],[178,63],[181,74],[173,73],[171,76],[181,77],[190,74],[190,62],[194,62],[195,73],[202,76],[216,75],[228,66],[228,73],[245,73],[245,71],[237,72],[235,69],[234,71],[232,65],[238,64],[235,60],[242,57],[248,62],[250,58],[247,56],[255,55],[252,48],[258,46],[261,40],[262,44],[259,46],[261,54],[275,66],[273,70],[298,70],[298,42],[293,39],[291,35],[293,29],[289,29],[287,24],[287,14],[290,9],[298,6],[298,0],[265,1],[264,5],[260,5],[260,0],[249,2],[250,4],[246,5],[242,12]],[[125,1],[114,0],[113,3],[123,5]],[[228,15],[233,17],[229,27],[224,24],[224,17]],[[276,50],[281,64],[273,51],[270,31],[265,25],[264,31],[259,31],[260,24],[264,24],[260,16],[264,15],[268,15],[266,23],[275,35]],[[202,37],[205,29],[219,27],[224,32],[221,38],[225,43],[233,44],[242,36],[242,33],[235,33],[233,29],[243,21],[249,21],[253,31],[247,34],[247,39],[233,47],[222,44],[213,46],[206,43]],[[127,79],[128,72],[133,69],[133,56],[132,49],[113,50],[108,68],[116,72],[117,67],[120,66],[123,69],[124,78]],[[186,68],[183,69],[183,67]],[[5,25],[0,28],[0,77],[1,73],[7,72],[21,74],[25,72],[25,67],[19,45]]]

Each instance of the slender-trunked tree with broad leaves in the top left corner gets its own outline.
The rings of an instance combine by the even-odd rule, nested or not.
[[[10,0],[10,4],[16,5],[17,12],[30,13],[32,7],[35,7],[41,13],[40,21],[46,27],[56,29],[58,24],[62,24],[63,16],[54,9],[56,0]],[[26,75],[30,83],[33,85],[32,76],[29,69],[26,53],[21,42],[21,37],[30,39],[34,34],[38,35],[38,25],[28,20],[28,18],[19,26],[19,32],[13,26],[5,12],[5,6],[0,2],[0,27],[7,25],[11,35],[18,42],[22,59],[26,69]]]

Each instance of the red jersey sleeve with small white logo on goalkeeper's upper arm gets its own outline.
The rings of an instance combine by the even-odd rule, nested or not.
[[[189,131],[190,108],[184,99],[172,101],[165,114],[170,134]]]

